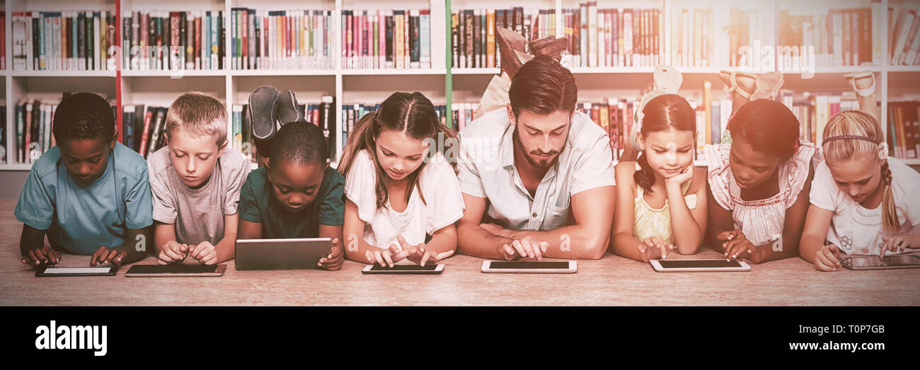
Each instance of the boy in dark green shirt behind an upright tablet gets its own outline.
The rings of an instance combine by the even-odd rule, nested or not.
[[[329,167],[323,131],[294,121],[271,141],[268,165],[249,172],[240,191],[237,238],[330,237],[331,253],[318,264],[339,270],[345,178]]]

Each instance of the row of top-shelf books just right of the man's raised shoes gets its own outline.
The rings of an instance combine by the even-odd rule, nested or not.
[[[574,66],[655,66],[664,54],[661,9],[599,9],[597,2],[563,9]]]

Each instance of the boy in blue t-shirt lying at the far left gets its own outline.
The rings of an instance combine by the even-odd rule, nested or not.
[[[90,266],[144,259],[153,224],[147,164],[116,140],[109,102],[93,93],[64,98],[52,133],[57,145],[32,165],[16,205],[22,262],[55,265],[60,250],[91,254]]]

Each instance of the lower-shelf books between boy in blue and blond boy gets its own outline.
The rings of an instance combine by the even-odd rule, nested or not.
[[[124,104],[121,109],[121,144],[147,157],[166,145],[168,107]]]

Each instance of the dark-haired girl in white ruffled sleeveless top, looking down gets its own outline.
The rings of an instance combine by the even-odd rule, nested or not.
[[[730,144],[706,145],[709,240],[726,258],[754,263],[799,254],[815,147],[782,103],[746,102],[729,121]]]

